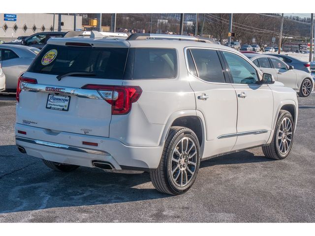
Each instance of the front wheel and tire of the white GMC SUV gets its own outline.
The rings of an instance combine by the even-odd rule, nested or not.
[[[281,132],[282,129],[287,131]],[[279,138],[280,132],[283,134],[281,138]],[[268,146],[262,147],[264,155],[275,160],[287,157],[293,145],[293,135],[294,121],[291,114],[288,111],[280,110],[272,141]]]

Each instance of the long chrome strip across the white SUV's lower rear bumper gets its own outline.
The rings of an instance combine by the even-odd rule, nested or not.
[[[69,150],[69,151],[79,151],[79,152],[96,154],[96,155],[110,155],[108,152],[102,151],[102,150],[74,147],[74,146],[57,144],[57,143],[52,143],[52,142],[47,142],[47,141],[42,141],[42,140],[25,139],[25,138],[21,138],[21,137],[16,137],[15,140],[30,143],[30,144],[37,144],[37,145],[52,147],[52,148],[65,149],[65,150]]]

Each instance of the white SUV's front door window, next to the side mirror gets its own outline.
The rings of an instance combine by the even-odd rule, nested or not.
[[[256,84],[259,79],[255,68],[240,56],[222,52],[232,76],[234,84]]]

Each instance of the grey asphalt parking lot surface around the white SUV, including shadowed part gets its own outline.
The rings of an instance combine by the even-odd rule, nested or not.
[[[286,159],[253,148],[201,162],[181,196],[159,193],[146,173],[54,172],[17,150],[13,95],[0,95],[0,114],[0,222],[315,222],[315,92],[299,98]]]

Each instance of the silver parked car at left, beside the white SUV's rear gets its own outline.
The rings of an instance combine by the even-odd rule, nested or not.
[[[0,45],[0,63],[6,77],[5,91],[16,91],[20,75],[27,71],[39,49],[14,44]]]

